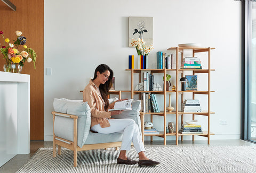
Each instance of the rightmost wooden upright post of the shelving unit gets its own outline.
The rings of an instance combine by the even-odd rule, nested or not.
[[[211,109],[210,109],[210,101],[211,101],[211,48],[208,48],[208,144],[210,145],[210,116],[211,116]]]

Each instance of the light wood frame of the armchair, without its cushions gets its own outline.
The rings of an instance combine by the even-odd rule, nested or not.
[[[77,167],[77,152],[78,151],[84,151],[84,150],[95,150],[95,149],[107,149],[107,148],[112,148],[115,147],[116,150],[118,150],[118,147],[121,146],[122,142],[109,142],[109,143],[99,143],[99,144],[86,144],[83,145],[82,148],[79,148],[77,146],[77,119],[78,116],[76,115],[70,115],[70,114],[62,114],[58,113],[55,111],[52,111],[53,115],[53,157],[55,158],[57,156],[56,154],[56,145],[58,145],[58,154],[61,154],[61,146],[64,148],[67,148],[69,150],[72,150],[74,153],[74,167]],[[73,141],[68,141],[66,139],[62,139],[61,137],[55,136],[54,133],[54,121],[55,121],[55,116],[63,116],[66,118],[72,118],[74,120],[74,142]],[[144,126],[144,114],[140,114],[140,120],[141,120],[141,128],[143,129]],[[142,131],[143,133],[143,131]],[[142,134],[142,141],[144,141],[144,135]]]

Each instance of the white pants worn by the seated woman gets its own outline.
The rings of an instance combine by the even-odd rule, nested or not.
[[[110,127],[102,128],[99,124],[91,127],[92,131],[109,134],[109,133],[123,133],[121,150],[130,150],[133,142],[137,153],[145,151],[141,140],[139,127],[135,124],[133,119],[109,119]]]

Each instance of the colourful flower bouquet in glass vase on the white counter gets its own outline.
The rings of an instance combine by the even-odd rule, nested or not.
[[[4,38],[3,31],[0,31],[4,39],[4,46],[0,48],[1,54],[6,61],[4,65],[5,72],[20,73],[25,62],[34,62],[34,68],[36,69],[36,53],[32,48],[28,48],[25,43],[26,37],[21,36],[21,31],[15,31],[17,40],[13,40],[13,44],[10,43],[9,38]],[[5,45],[8,44],[8,45]],[[22,49],[19,50],[19,46],[23,45]],[[15,46],[15,48],[14,48]],[[20,47],[21,48],[21,47]],[[30,56],[30,57],[29,57]]]

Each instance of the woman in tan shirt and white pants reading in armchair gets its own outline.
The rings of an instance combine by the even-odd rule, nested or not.
[[[108,109],[113,108],[115,104],[115,102],[109,104],[108,101],[112,78],[113,71],[106,64],[101,64],[95,69],[93,79],[83,91],[84,102],[87,101],[91,108],[91,130],[103,134],[123,133],[121,152],[117,163],[127,165],[139,163],[139,166],[158,165],[159,162],[146,157],[139,128],[133,119],[111,119],[111,116],[122,113],[122,110],[108,112]],[[131,148],[131,142],[139,154],[139,162],[126,156],[126,151]]]

